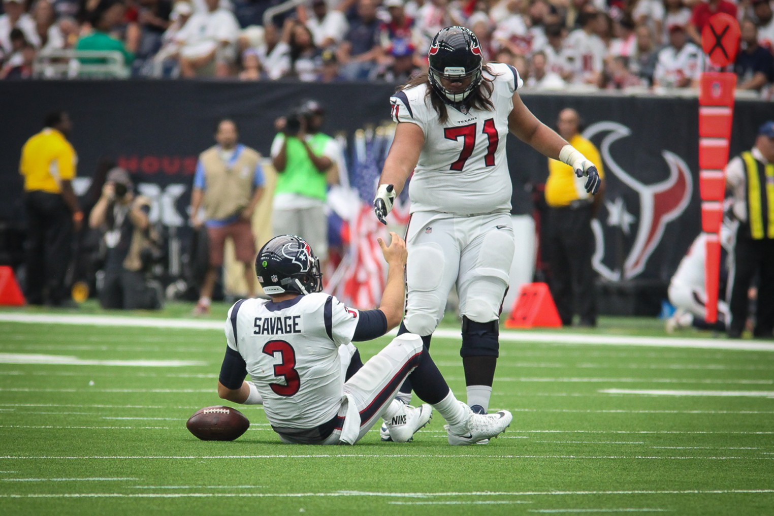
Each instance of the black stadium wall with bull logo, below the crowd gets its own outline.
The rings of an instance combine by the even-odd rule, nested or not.
[[[138,183],[166,193],[166,224],[183,225],[199,152],[214,125],[233,118],[241,142],[269,154],[273,121],[303,98],[327,108],[325,130],[352,135],[389,120],[388,84],[227,83],[209,81],[0,82],[0,223],[23,225],[19,152],[44,115],[69,111],[79,176],[102,156],[116,159]],[[549,125],[576,108],[584,135],[601,149],[605,206],[595,224],[594,267],[612,284],[664,285],[700,231],[696,98],[529,94],[526,105]],[[739,101],[731,155],[752,145],[774,104]],[[529,190],[546,178],[546,159],[509,138],[513,212],[533,211]],[[176,213],[170,214],[170,209]]]

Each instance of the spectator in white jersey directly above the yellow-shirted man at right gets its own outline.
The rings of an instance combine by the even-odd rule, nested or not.
[[[573,84],[598,84],[602,73],[604,58],[608,54],[598,32],[604,29],[607,21],[600,12],[581,12],[578,16],[580,29],[567,36],[565,45],[568,50],[570,66],[573,70]]]

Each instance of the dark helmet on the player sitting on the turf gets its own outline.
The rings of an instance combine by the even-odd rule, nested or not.
[[[255,258],[255,273],[267,294],[310,294],[323,289],[320,259],[307,241],[294,234],[266,242]]]

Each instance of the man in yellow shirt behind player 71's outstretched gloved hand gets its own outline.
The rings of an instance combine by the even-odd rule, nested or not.
[[[560,111],[557,132],[594,163],[602,183],[598,193],[591,196],[584,190],[585,178],[578,178],[572,167],[556,159],[548,160],[548,220],[543,248],[550,266],[551,296],[564,326],[572,324],[574,313],[580,316],[580,326],[596,326],[591,219],[597,214],[604,194],[602,159],[594,144],[580,135],[580,115],[574,109]]]

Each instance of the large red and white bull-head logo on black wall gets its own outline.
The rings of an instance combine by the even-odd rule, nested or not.
[[[618,122],[601,121],[583,132],[583,137],[589,140],[598,135],[603,136],[600,154],[605,170],[611,174],[611,178],[620,181],[624,186],[615,200],[604,202],[608,210],[607,226],[619,227],[625,237],[628,237],[629,226],[635,224],[636,220],[639,220],[639,224],[636,226],[632,243],[627,246],[628,253],[623,270],[620,270],[616,265],[609,267],[604,264],[605,231],[601,222],[594,220],[592,229],[596,239],[596,251],[592,262],[594,269],[606,279],[632,279],[645,270],[650,256],[661,244],[666,225],[680,217],[688,207],[693,193],[693,181],[686,162],[673,152],[663,150],[661,154],[670,169],[670,175],[657,183],[642,183],[635,179],[634,175],[625,172],[611,155],[613,143],[632,135],[632,130]],[[635,199],[632,199],[627,189],[634,190]],[[608,190],[606,196],[612,197],[610,193]],[[629,203],[639,202],[639,217],[628,212],[625,200]]]

